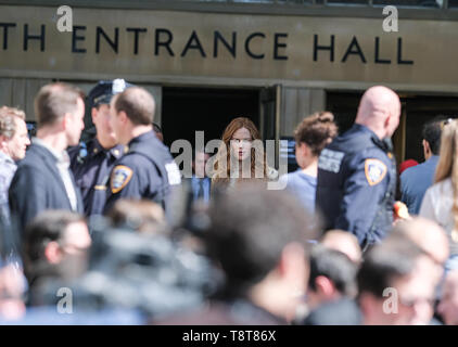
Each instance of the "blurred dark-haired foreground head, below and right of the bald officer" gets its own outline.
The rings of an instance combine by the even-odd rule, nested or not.
[[[402,234],[370,249],[357,277],[365,324],[428,324],[436,270],[430,256]]]

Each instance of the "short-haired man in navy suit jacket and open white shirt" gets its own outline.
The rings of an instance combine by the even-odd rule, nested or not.
[[[20,162],[9,191],[11,215],[21,233],[46,209],[84,210],[65,151],[78,144],[84,128],[81,92],[65,83],[47,85],[35,98],[35,115],[37,137]]]

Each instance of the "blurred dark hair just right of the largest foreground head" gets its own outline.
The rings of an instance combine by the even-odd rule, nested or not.
[[[308,286],[316,291],[316,279],[323,275],[332,281],[342,295],[354,297],[357,293],[357,265],[342,252],[316,245],[310,254]]]

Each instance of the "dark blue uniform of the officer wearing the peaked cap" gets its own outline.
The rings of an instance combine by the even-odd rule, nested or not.
[[[71,169],[81,190],[86,216],[102,215],[106,202],[106,183],[124,145],[105,150],[97,139],[68,150]]]

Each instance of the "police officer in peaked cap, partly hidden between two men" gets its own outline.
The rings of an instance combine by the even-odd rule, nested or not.
[[[124,152],[124,145],[117,143],[110,125],[110,101],[131,86],[124,79],[99,81],[88,95],[96,138],[68,150],[71,169],[81,190],[86,216],[103,213],[110,172]]]

